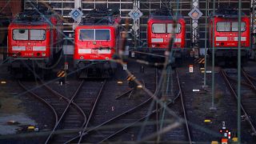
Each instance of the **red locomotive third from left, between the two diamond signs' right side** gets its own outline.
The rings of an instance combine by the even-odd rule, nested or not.
[[[174,30],[174,18],[170,12],[160,10],[151,14],[147,22],[147,43],[150,50],[164,51],[170,46],[170,38],[174,35],[175,51],[182,51],[186,45],[186,22],[184,18],[178,16],[177,25]],[[178,54],[178,53],[177,53]],[[181,53],[174,55],[181,57]]]

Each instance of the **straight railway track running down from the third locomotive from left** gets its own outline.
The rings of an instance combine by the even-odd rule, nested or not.
[[[186,104],[184,102],[183,93],[182,93],[182,86],[180,83],[178,71],[174,71],[174,82],[173,85],[174,91],[176,94],[173,94],[170,98],[170,102],[166,102],[166,106],[171,110],[166,110],[165,119],[174,119],[174,121],[182,122],[182,126],[178,126],[175,130],[167,131],[166,134],[162,134],[161,137],[157,139],[157,142],[161,143],[170,143],[170,142],[186,142],[192,143],[192,138],[190,136],[190,126],[186,116]],[[177,85],[175,85],[177,84]],[[165,107],[160,107],[160,110],[164,110]],[[161,116],[158,122],[161,123],[162,119]],[[158,126],[161,127],[161,126]],[[168,124],[164,125],[163,127],[168,127]],[[162,139],[162,141],[161,141]]]

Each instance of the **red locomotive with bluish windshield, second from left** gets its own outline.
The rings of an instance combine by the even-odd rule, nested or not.
[[[110,10],[92,10],[75,28],[74,67],[80,78],[113,74],[116,63],[111,59],[118,48],[119,20]]]

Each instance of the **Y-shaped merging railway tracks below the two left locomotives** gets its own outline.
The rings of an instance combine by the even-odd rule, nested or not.
[[[55,131],[78,130],[87,126],[91,117],[90,111],[92,112],[93,110],[91,109],[95,108],[106,81],[82,81],[71,98],[66,98],[45,84],[42,86],[46,90],[39,88],[36,89],[35,92],[33,89],[31,90],[26,87],[22,82],[18,81],[18,83],[24,90],[32,94],[34,98],[45,103],[54,114],[54,126],[47,136],[45,143],[64,143],[67,139],[73,138],[76,134],[55,134]],[[46,94],[46,91],[48,91],[48,94]],[[90,91],[94,91],[94,93],[90,93]],[[88,118],[87,115],[89,116]]]

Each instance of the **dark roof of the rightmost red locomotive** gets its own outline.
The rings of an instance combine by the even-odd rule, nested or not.
[[[241,12],[241,16],[245,17],[246,14]],[[238,9],[230,6],[220,6],[215,14],[213,12],[210,14],[210,17],[238,18]]]

